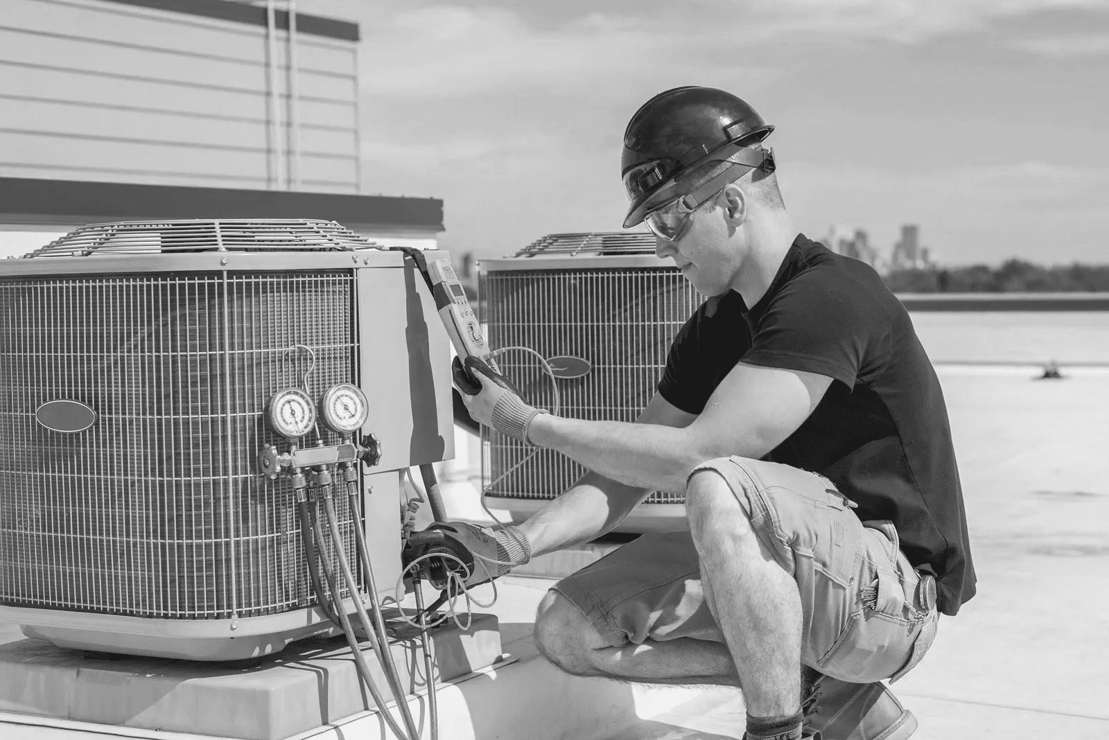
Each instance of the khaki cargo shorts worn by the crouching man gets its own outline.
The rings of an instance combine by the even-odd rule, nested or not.
[[[801,661],[844,681],[897,680],[932,646],[938,611],[887,521],[861,522],[820,475],[720,458],[719,473],[801,593]],[[930,578],[930,576],[926,576]],[[719,586],[718,586],[719,588]],[[613,647],[689,637],[723,643],[689,532],[645,534],[554,586]],[[933,599],[934,600],[934,599]]]

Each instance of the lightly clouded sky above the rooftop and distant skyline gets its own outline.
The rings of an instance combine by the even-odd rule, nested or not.
[[[311,7],[308,7],[311,6]],[[362,27],[364,192],[442,198],[440,245],[618,230],[628,120],[724,89],[798,227],[901,224],[942,264],[1109,263],[1109,1],[301,0]]]

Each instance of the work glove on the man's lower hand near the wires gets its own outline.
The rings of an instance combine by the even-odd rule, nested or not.
[[[401,554],[405,568],[424,555],[454,555],[429,557],[418,565],[428,582],[438,589],[447,587],[449,572],[457,573],[467,588],[492,580],[531,559],[531,543],[516,526],[494,532],[468,522],[441,522],[416,532],[408,538]],[[464,567],[465,566],[465,567]]]

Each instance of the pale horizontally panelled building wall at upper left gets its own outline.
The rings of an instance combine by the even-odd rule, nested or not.
[[[0,176],[357,193],[357,41],[191,2],[0,0]]]

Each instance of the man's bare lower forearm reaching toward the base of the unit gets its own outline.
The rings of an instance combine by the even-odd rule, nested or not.
[[[650,491],[587,473],[520,525],[531,556],[590,542],[619,524]]]

